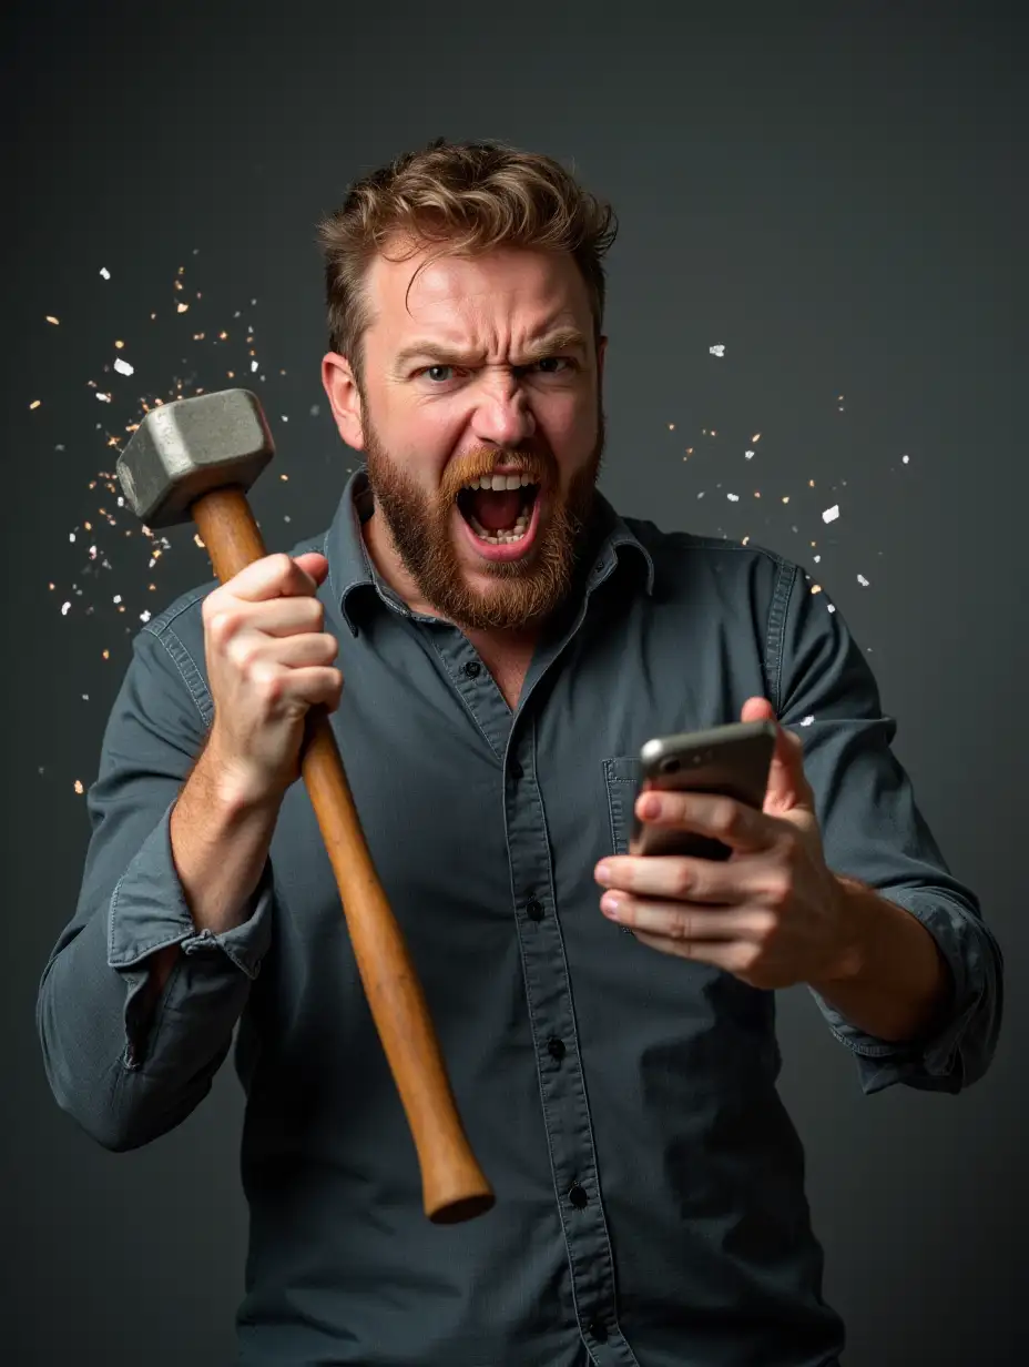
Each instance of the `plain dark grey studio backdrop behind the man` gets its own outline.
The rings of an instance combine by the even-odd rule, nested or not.
[[[96,772],[130,633],[208,577],[184,530],[149,569],[89,483],[141,399],[235,368],[288,474],[254,496],[268,541],[321,528],[355,461],[318,384],[313,224],[357,175],[441,134],[556,154],[619,212],[608,496],[798,559],[868,651],[1009,992],[981,1084],[872,1099],[806,991],[782,994],[827,1295],[847,1367],[1024,1362],[1025,30],[1014,4],[663,11],[7,11],[7,1362],[223,1364],[242,1284],[231,1069],[175,1133],[111,1155],[56,1109],[34,1032],[87,838],[74,783]],[[111,369],[115,339],[131,379]]]

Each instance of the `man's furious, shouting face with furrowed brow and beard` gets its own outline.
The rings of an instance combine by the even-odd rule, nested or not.
[[[411,284],[424,258],[370,268],[359,437],[340,431],[415,595],[467,629],[532,629],[568,592],[603,455],[589,295],[566,254],[443,257]],[[495,472],[532,485],[465,488]]]

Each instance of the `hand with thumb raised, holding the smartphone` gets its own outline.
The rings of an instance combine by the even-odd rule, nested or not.
[[[776,722],[772,705],[747,699],[741,720],[764,719]],[[825,983],[851,971],[857,946],[845,890],[825,865],[798,735],[776,722],[760,812],[728,797],[656,790],[637,798],[637,812],[731,849],[724,861],[619,854],[597,865],[597,882],[609,889],[601,909],[644,945],[713,964],[761,988]]]

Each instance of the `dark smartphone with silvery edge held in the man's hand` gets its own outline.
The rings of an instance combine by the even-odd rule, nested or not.
[[[708,731],[657,735],[640,750],[637,797],[649,789],[716,793],[760,812],[775,752],[775,722],[732,722]],[[727,860],[728,845],[697,831],[641,822],[633,802],[630,854],[689,854]]]

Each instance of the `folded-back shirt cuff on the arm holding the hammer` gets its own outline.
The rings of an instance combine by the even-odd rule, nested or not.
[[[122,875],[108,916],[107,961],[115,969],[138,968],[159,949],[179,945],[184,954],[225,954],[254,979],[272,938],[272,874],[265,861],[246,920],[228,931],[197,931],[171,850],[171,813],[165,811]]]

